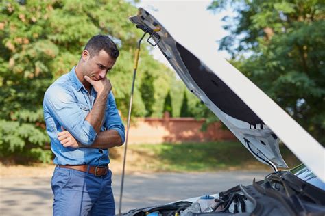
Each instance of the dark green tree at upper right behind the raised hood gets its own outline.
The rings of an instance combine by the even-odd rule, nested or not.
[[[324,2],[213,1],[231,7],[220,49],[316,139],[325,141]]]

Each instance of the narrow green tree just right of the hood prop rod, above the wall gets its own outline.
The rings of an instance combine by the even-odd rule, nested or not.
[[[153,105],[155,102],[154,99],[154,76],[149,73],[145,72],[141,81],[140,86],[141,98],[143,103],[145,104],[145,109],[147,113],[145,116],[152,116]]]

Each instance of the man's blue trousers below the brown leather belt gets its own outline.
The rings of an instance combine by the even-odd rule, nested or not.
[[[106,176],[56,166],[51,186],[53,215],[115,215],[112,172]]]

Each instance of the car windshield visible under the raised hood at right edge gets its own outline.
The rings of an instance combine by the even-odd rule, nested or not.
[[[311,170],[309,170],[309,168],[307,168],[304,164],[294,167],[292,170],[290,170],[290,172],[305,182],[325,190],[325,183],[323,183],[320,178],[317,178],[317,176],[315,176],[315,174],[313,174],[313,172],[311,172]]]

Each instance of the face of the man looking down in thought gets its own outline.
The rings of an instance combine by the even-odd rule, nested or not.
[[[94,81],[104,79],[116,62],[116,59],[110,57],[104,50],[99,51],[98,55],[93,55],[93,57],[90,57],[89,53],[85,55],[85,51],[82,55],[85,60],[83,73]]]

